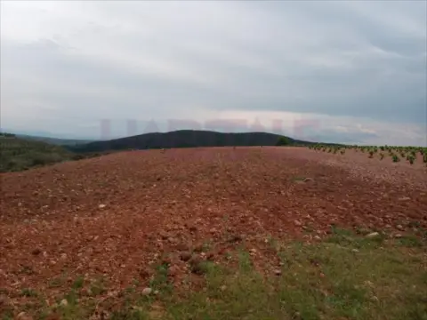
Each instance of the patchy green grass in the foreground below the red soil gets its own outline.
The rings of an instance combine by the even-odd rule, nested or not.
[[[84,283],[77,280],[56,305],[37,309],[35,319],[51,313],[64,320],[86,319],[97,308],[116,320],[426,320],[425,241],[418,236],[390,239],[382,233],[357,236],[339,228],[316,244],[270,239],[281,266],[257,271],[251,254],[240,247],[228,262],[204,261],[201,276],[189,274],[176,287],[169,282],[168,266],[159,265],[149,294],[136,282],[101,303],[95,294],[79,299],[77,288]],[[63,299],[66,303],[60,303]]]

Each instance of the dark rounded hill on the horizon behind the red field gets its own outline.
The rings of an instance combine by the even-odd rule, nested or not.
[[[154,132],[115,140],[95,141],[67,148],[76,152],[103,152],[125,149],[196,148],[227,146],[276,146],[282,136],[266,132],[222,133],[197,130]],[[290,144],[311,142],[286,138]]]

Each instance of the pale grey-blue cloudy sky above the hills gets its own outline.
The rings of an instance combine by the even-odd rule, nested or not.
[[[1,128],[427,146],[427,4],[1,1]]]

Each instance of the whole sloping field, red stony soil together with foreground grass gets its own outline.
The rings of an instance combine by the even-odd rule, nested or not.
[[[2,173],[0,315],[425,319],[426,177],[278,147]]]

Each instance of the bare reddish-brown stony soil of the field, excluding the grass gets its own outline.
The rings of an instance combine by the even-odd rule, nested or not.
[[[44,292],[49,304],[81,275],[102,277],[100,296],[135,279],[144,287],[158,260],[181,285],[182,252],[221,263],[243,244],[256,266],[274,270],[269,237],[316,242],[331,225],[390,236],[427,228],[427,168],[352,151],[133,151],[0,177],[0,288],[17,305],[26,297],[13,292]]]

